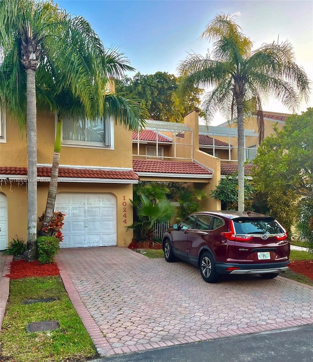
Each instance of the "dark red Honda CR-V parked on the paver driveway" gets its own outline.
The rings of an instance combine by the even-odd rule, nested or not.
[[[219,274],[260,274],[264,279],[288,270],[290,243],[272,217],[253,212],[203,211],[174,224],[163,235],[165,260],[199,266],[207,283]]]

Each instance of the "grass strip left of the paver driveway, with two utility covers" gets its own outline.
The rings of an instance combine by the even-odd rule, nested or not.
[[[54,302],[23,305],[27,299],[57,298]],[[60,328],[26,332],[31,322],[57,320]],[[0,335],[1,357],[14,362],[53,362],[85,359],[96,351],[72,306],[60,277],[10,281],[10,296]]]

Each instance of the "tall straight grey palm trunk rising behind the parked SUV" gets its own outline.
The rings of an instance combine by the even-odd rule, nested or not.
[[[245,211],[245,125],[244,104],[241,96],[237,97],[238,129],[238,211]]]

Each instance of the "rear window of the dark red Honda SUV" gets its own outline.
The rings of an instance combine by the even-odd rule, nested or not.
[[[233,219],[236,234],[282,234],[284,230],[273,218]]]

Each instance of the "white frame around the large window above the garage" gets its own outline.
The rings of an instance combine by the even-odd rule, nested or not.
[[[57,125],[58,116],[55,114],[55,127]],[[106,150],[114,150],[114,122],[110,118],[103,123],[105,142],[89,142],[63,139],[62,129],[62,146],[79,147],[79,148],[102,148]]]

